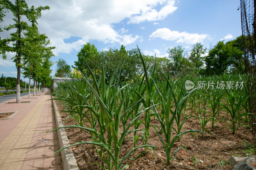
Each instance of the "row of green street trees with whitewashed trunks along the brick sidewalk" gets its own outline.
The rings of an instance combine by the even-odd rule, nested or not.
[[[45,34],[41,34],[37,29],[37,19],[41,17],[41,11],[49,10],[49,6],[28,7],[26,0],[0,1],[0,21],[4,20],[5,12],[12,12],[14,24],[4,26],[4,30],[10,33],[6,39],[0,39],[0,54],[6,59],[6,52],[13,52],[12,58],[17,68],[16,103],[20,103],[20,73],[34,79],[34,86],[42,83],[44,86],[51,86],[50,77],[52,62],[50,61],[52,49],[49,47],[50,40]],[[21,19],[22,18],[22,19]],[[2,32],[0,27],[0,32]],[[29,95],[30,97],[30,95]]]

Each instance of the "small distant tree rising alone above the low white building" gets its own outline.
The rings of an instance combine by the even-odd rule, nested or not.
[[[57,62],[57,69],[55,72],[55,77],[70,77],[70,72],[71,72],[71,68],[70,65],[68,65],[68,63],[59,58],[58,62]]]

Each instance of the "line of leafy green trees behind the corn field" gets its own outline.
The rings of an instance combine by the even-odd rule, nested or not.
[[[219,41],[213,48],[210,48],[207,54],[207,48],[201,42],[193,45],[189,52],[185,52],[185,48],[177,46],[169,48],[166,57],[156,57],[156,75],[163,79],[162,72],[170,73],[172,76],[198,76],[198,75],[220,75],[227,73],[244,73],[243,61],[243,42],[242,36],[235,40]],[[154,56],[144,55],[145,63],[151,68],[154,63]],[[99,52],[94,44],[86,43],[81,51],[77,54],[78,60],[75,61],[73,68],[89,74],[88,67],[100,75],[101,63],[104,62],[106,67],[106,81],[113,74],[120,60],[123,59],[121,71],[121,80],[125,78],[136,78],[143,67],[139,57],[137,48],[125,50],[122,45],[120,50],[109,48],[108,51]],[[86,63],[84,62],[86,61]],[[65,73],[66,71],[66,73]],[[59,73],[62,74],[59,74]],[[65,60],[60,59],[57,63],[56,77],[72,77],[71,68]],[[73,73],[73,77],[75,74]]]

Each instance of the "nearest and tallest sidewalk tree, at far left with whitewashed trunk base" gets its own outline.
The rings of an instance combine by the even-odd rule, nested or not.
[[[16,63],[17,67],[17,97],[16,97],[16,103],[20,103],[20,68],[21,68],[21,56],[22,56],[22,49],[21,49],[21,43],[23,42],[23,39],[21,38],[21,32],[27,31],[29,25],[26,21],[21,21],[20,18],[22,16],[25,16],[26,19],[29,22],[36,23],[36,20],[41,17],[41,11],[50,9],[49,6],[45,7],[38,7],[35,8],[34,6],[31,6],[31,8],[28,8],[28,4],[25,0],[15,0],[15,4],[13,4],[9,0],[2,0],[0,1],[0,4],[6,9],[7,11],[11,11],[14,18],[14,24],[5,26],[4,29],[9,31],[11,29],[16,29],[14,33],[11,33],[10,38],[6,38],[1,41],[1,52],[3,55],[3,59],[6,59],[5,52],[14,52],[16,53],[14,57],[14,62]],[[13,42],[12,45],[8,46],[9,42]]]

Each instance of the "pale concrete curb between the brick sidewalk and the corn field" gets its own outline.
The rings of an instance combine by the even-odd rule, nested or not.
[[[53,104],[56,129],[57,129],[57,128],[63,127],[63,124],[61,122],[59,110],[58,110],[57,105],[54,100],[52,100],[52,104]],[[70,145],[66,131],[64,128],[58,129],[57,133],[58,133],[58,140],[59,140],[60,148],[64,148],[64,147]],[[60,151],[60,153],[61,153],[63,170],[79,170],[77,163],[76,163],[75,156],[74,156],[71,148],[64,149],[64,150]]]

